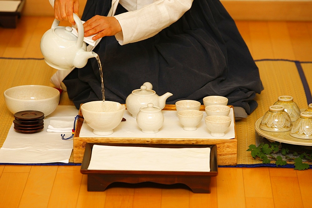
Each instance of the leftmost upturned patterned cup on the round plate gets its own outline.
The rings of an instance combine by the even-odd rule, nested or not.
[[[264,114],[259,128],[265,131],[284,132],[290,131],[292,122],[283,106],[270,106]]]

